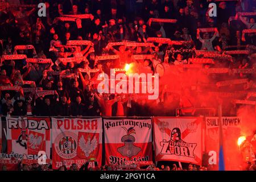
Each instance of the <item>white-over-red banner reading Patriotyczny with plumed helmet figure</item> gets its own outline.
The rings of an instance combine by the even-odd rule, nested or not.
[[[151,119],[104,119],[106,164],[152,161]]]

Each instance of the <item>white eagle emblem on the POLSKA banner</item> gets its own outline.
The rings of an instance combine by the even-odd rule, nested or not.
[[[79,146],[81,150],[84,152],[86,158],[88,158],[90,153],[95,150],[97,144],[97,139],[95,137],[93,137],[92,140],[90,140],[90,137],[88,137],[88,140],[86,142],[84,139],[84,135],[82,135],[82,137],[79,140]]]

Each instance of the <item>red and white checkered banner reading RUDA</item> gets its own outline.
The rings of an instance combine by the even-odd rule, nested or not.
[[[6,117],[7,154],[27,159],[28,163],[38,160],[38,152],[46,152],[50,159],[51,130],[50,118]]]

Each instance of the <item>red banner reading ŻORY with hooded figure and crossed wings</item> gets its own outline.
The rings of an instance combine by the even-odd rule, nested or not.
[[[201,125],[201,118],[154,117],[155,160],[201,165]]]

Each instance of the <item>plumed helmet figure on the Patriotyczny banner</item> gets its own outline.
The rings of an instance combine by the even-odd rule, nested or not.
[[[124,135],[121,139],[121,141],[125,143],[125,145],[119,147],[117,151],[123,156],[127,156],[128,158],[130,158],[131,156],[137,155],[141,151],[141,148],[134,146],[133,144],[135,142],[135,137],[133,137],[133,135],[131,134],[136,134],[134,128],[130,127],[128,130],[125,127],[122,128],[127,133],[127,135]]]

